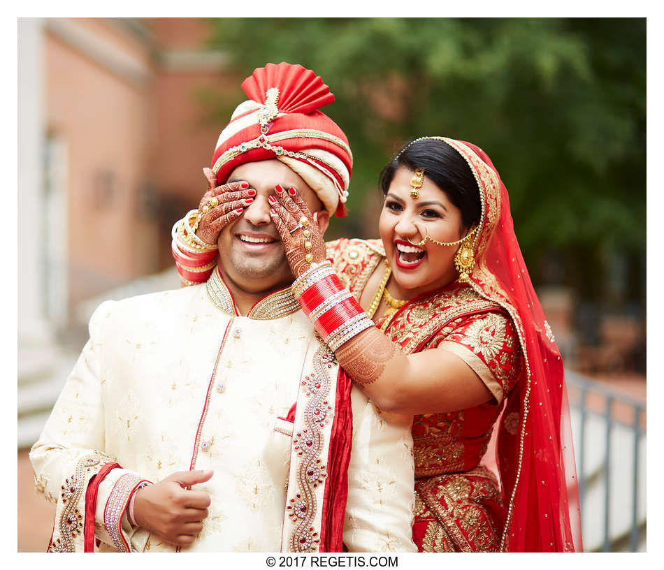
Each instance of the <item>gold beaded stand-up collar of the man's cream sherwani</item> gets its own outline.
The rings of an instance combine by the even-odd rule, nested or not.
[[[238,307],[233,300],[233,294],[224,282],[217,266],[207,283],[208,297],[220,311],[233,316],[240,316]],[[291,288],[280,289],[266,295],[259,300],[247,313],[247,318],[258,321],[281,319],[300,310],[300,305],[293,295]]]

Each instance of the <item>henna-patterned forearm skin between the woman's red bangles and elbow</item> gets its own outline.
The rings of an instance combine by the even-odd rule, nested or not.
[[[399,352],[394,342],[372,327],[342,344],[335,355],[355,383],[366,385],[379,379]]]

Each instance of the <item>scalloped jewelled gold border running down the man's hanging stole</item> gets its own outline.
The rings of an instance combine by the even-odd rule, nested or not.
[[[331,380],[327,365],[334,360],[333,354],[325,344],[321,344],[313,357],[314,372],[303,381],[303,390],[308,394],[305,400],[304,425],[293,437],[293,448],[301,458],[297,469],[296,494],[288,502],[287,512],[296,524],[291,533],[291,552],[315,552],[319,543],[319,532],[314,520],[318,509],[315,488],[326,477],[326,466],[321,462],[323,453],[323,426],[329,423],[331,411]]]

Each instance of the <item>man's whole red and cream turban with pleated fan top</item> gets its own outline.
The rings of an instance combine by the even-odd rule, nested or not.
[[[343,131],[318,110],[334,101],[330,88],[310,69],[282,62],[255,69],[242,89],[249,101],[233,111],[212,156],[218,183],[240,164],[277,159],[342,217],[353,155]]]

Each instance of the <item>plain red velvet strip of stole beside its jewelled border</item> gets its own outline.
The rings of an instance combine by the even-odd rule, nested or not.
[[[340,368],[337,375],[335,414],[323,494],[320,552],[341,552],[343,548],[343,522],[348,498],[348,465],[353,439],[351,388],[350,377]]]

